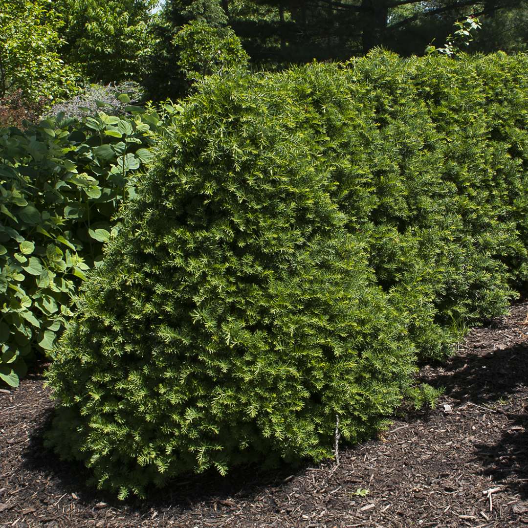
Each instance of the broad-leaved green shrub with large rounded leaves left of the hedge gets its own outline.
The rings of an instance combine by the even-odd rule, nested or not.
[[[133,118],[50,117],[0,133],[0,379],[10,385],[52,351],[153,157],[162,117],[131,109]]]

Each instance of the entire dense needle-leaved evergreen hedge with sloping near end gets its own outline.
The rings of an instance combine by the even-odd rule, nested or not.
[[[527,278],[525,55],[213,77],[123,210],[49,372],[99,487],[386,424],[417,360]]]

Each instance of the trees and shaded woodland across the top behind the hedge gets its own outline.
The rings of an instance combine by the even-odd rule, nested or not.
[[[204,45],[229,52],[241,42],[254,71],[376,47],[422,55],[468,16],[482,29],[465,51],[521,52],[527,14],[526,0],[0,0],[0,108],[22,99],[39,115],[90,83],[122,81],[139,83],[143,100],[176,99],[192,86],[182,55],[203,60]],[[192,22],[200,31],[182,39]]]

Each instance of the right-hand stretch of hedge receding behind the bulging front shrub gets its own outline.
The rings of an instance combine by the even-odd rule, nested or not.
[[[373,55],[351,64],[350,114],[341,101],[325,105],[339,200],[426,359],[447,353],[468,322],[501,313],[525,284],[526,64],[504,54]],[[344,89],[336,83],[336,101]],[[370,125],[361,142],[340,134],[358,106]],[[363,196],[358,174],[361,192],[371,190]]]

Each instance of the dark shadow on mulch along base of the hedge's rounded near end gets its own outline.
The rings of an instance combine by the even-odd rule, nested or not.
[[[230,503],[232,499],[246,498],[252,500],[263,488],[279,488],[289,482],[297,474],[302,474],[309,467],[308,463],[296,466],[285,465],[274,469],[262,469],[257,464],[233,469],[222,477],[213,470],[203,475],[181,476],[168,483],[163,489],[151,487],[147,489],[146,500],[128,497],[119,501],[115,495],[98,491],[87,484],[91,477],[90,471],[78,461],[60,460],[50,449],[44,447],[44,435],[51,427],[53,409],[46,409],[39,419],[39,426],[34,429],[30,441],[23,452],[23,466],[29,472],[39,471],[52,476],[55,492],[75,493],[79,503],[93,507],[97,503],[118,508],[121,511],[145,514],[152,508],[169,508],[174,514],[183,514],[193,510],[201,502]],[[270,506],[278,510],[274,499],[269,495]]]

